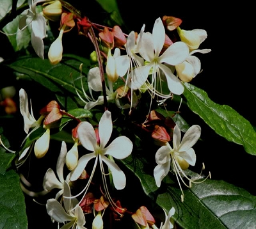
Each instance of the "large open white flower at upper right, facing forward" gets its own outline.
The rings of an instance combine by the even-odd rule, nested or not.
[[[189,54],[188,45],[184,42],[175,42],[159,56],[163,49],[164,40],[165,30],[163,22],[158,18],[154,24],[153,33],[143,33],[141,40],[140,55],[147,61],[147,65],[134,69],[133,75],[129,75],[129,87],[133,89],[141,88],[141,86],[146,83],[150,70],[152,69],[152,80],[148,82],[148,84],[150,84],[148,89],[151,90],[154,95],[159,94],[159,96],[161,96],[161,91],[158,92],[156,90],[162,80],[161,73],[165,75],[168,88],[172,93],[177,95],[183,93],[184,86],[172,73],[172,70],[164,65],[164,63],[172,66],[182,63]]]

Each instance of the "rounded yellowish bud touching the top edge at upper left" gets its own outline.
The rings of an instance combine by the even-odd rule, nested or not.
[[[43,4],[44,6],[44,4]],[[48,20],[59,20],[62,13],[62,5],[60,1],[53,1],[43,9],[44,17]]]

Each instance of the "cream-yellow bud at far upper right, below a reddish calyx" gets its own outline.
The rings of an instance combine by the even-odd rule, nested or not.
[[[200,43],[207,38],[207,33],[204,29],[184,30],[178,27],[177,32],[180,40],[188,45],[189,50],[198,49]]]

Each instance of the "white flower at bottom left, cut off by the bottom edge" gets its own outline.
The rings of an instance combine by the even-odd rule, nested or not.
[[[71,197],[70,187],[67,182],[64,182],[64,196]],[[46,203],[46,210],[49,216],[54,221],[58,223],[66,223],[60,229],[68,229],[68,228],[77,228],[77,229],[86,229],[85,225],[85,217],[83,210],[79,205],[77,205],[78,201],[76,198],[64,198],[63,205],[64,207],[56,200],[49,199]]]

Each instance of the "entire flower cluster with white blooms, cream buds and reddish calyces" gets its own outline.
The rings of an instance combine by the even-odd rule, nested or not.
[[[36,8],[38,4],[42,5],[41,12]],[[119,162],[132,157],[134,150],[134,141],[128,138],[131,135],[122,134],[122,130],[116,132],[116,128],[114,132],[113,127],[119,114],[125,116],[129,125],[137,125],[141,131],[150,133],[150,139],[159,147],[154,157],[156,167],[152,169],[157,187],[161,186],[164,177],[174,173],[184,201],[181,182],[186,187],[204,182],[205,179],[197,181],[186,175],[189,166],[196,163],[192,146],[200,138],[200,126],[187,128],[181,140],[179,123],[173,118],[179,112],[164,116],[152,109],[152,104],[166,106],[166,101],[173,95],[184,93],[184,82],[190,82],[200,73],[200,59],[193,54],[211,51],[198,49],[207,38],[206,31],[185,31],[180,28],[181,20],[159,17],[154,22],[152,33],[145,31],[146,25],[143,25],[140,33],[131,31],[127,35],[119,26],[110,28],[91,22],[65,1],[31,0],[28,5],[29,9],[20,18],[19,28],[31,27],[31,45],[41,59],[44,59],[43,39],[49,20],[60,22],[60,34],[48,51],[52,65],[61,62],[63,35],[75,27],[79,35],[92,41],[95,50],[91,54],[93,65],[88,74],[83,74],[83,64],[80,65],[81,90],[74,84],[78,98],[84,103],[83,108],[65,111],[59,102],[52,100],[40,109],[36,120],[26,91],[19,91],[20,113],[27,135],[20,149],[12,151],[18,155],[17,167],[24,164],[31,152],[38,159],[45,157],[52,132],[61,132],[72,123],[72,146],[68,150],[66,139],[61,141],[56,168],[49,168],[42,182],[45,193],[57,190],[54,198],[49,198],[46,203],[52,221],[61,224],[61,228],[85,228],[87,214],[93,214],[92,228],[103,228],[104,212],[109,210],[109,215],[115,220],[129,214],[137,228],[156,229],[159,222],[147,207],[141,206],[131,212],[122,207],[118,198],[112,197],[126,186],[125,172]],[[167,31],[175,31],[179,38],[172,41]],[[132,111],[136,110],[145,94],[149,95],[150,104],[145,121],[134,121]],[[110,103],[118,112],[109,106]],[[95,108],[100,109],[96,112],[97,118],[93,116]],[[122,125],[120,129],[123,129]],[[0,143],[3,145],[2,141]],[[165,222],[159,223],[159,228],[173,228],[170,219],[175,215],[175,209],[172,207],[168,215],[164,209],[164,215]]]

